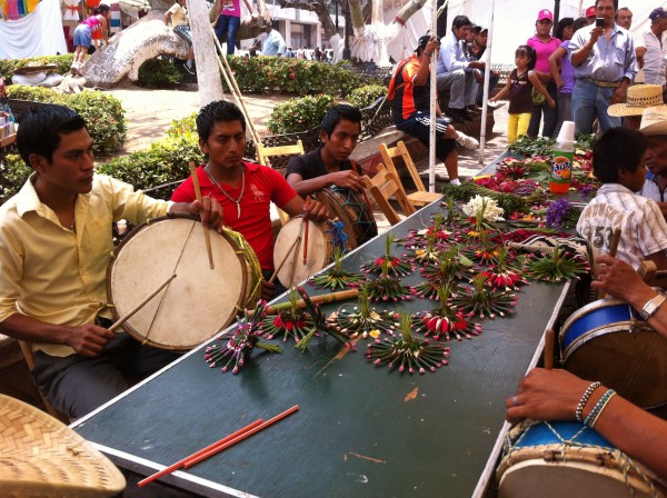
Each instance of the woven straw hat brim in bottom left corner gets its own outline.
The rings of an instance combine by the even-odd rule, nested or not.
[[[81,436],[43,411],[0,395],[3,497],[110,497],[125,487],[122,474]]]

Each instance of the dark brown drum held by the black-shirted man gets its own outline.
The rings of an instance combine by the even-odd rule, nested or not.
[[[332,186],[321,189],[316,197],[327,207],[331,218],[338,218],[344,222],[344,230],[351,249],[356,249],[378,235],[372,209],[361,193]]]

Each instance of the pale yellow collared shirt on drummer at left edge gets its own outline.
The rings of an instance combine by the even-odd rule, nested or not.
[[[77,197],[72,231],[40,201],[34,178],[0,207],[0,321],[22,313],[47,323],[92,323],[107,302],[111,222],[142,223],[166,215],[171,202],[96,175],[92,190]],[[62,345],[37,343],[36,349],[52,356],[74,352]]]

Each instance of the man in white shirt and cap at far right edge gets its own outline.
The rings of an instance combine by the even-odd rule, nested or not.
[[[645,82],[664,87],[667,68],[667,11],[658,7],[648,18],[650,28],[644,33],[644,47],[637,48],[637,57],[644,60]]]

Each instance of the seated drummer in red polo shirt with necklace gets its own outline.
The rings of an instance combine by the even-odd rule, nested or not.
[[[208,156],[208,163],[197,168],[201,196],[218,199],[225,226],[240,232],[255,249],[265,280],[268,280],[273,270],[270,202],[289,216],[303,213],[315,221],[326,220],[329,212],[318,201],[306,208],[305,200],[278,171],[242,160],[246,120],[232,102],[219,100],[202,107],[197,114],[197,133],[199,147]],[[195,198],[191,177],[171,196],[176,202]],[[269,299],[275,290],[273,283],[265,281],[262,298]]]

